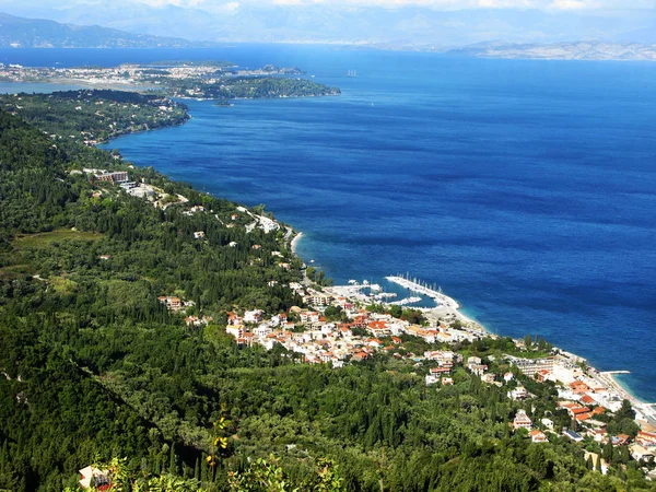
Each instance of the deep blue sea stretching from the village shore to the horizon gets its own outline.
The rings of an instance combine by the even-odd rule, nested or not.
[[[622,383],[656,401],[656,63],[293,45],[0,50],[25,66],[172,59],[297,66],[342,94],[187,99],[188,124],[105,148],[266,204],[336,283],[391,289],[386,276],[409,273],[494,333],[630,371]]]

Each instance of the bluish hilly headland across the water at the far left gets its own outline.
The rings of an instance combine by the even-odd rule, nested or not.
[[[59,24],[0,13],[2,48],[188,48],[185,39],[132,34],[97,25]]]

